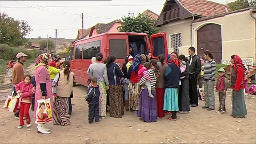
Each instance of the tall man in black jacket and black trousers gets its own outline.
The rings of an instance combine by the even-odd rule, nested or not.
[[[198,106],[197,97],[197,76],[201,71],[200,58],[195,54],[194,47],[188,48],[189,54],[189,103],[191,107]]]

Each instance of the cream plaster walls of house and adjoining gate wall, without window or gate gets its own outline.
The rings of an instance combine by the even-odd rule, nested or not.
[[[255,16],[255,14],[254,14]],[[181,33],[182,47],[179,54],[188,56],[190,40],[190,20],[180,20],[161,26],[162,32],[166,32],[168,53],[174,50],[170,48],[170,35]],[[256,61],[256,28],[255,21],[250,12],[237,12],[223,17],[192,23],[192,46],[197,54],[197,30],[206,24],[220,24],[222,36],[222,59],[230,59],[233,54],[241,58],[253,58]]]

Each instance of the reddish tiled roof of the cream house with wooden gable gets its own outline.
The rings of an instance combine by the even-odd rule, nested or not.
[[[177,0],[185,9],[198,16],[213,16],[226,12],[223,4],[207,0]]]

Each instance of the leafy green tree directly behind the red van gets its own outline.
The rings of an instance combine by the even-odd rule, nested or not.
[[[118,27],[119,32],[140,32],[150,36],[160,31],[160,28],[156,27],[156,20],[149,15],[139,13],[134,16],[134,13],[128,12],[128,16],[122,17],[120,21],[122,25]]]

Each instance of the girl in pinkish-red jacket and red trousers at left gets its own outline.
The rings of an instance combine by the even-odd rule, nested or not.
[[[27,128],[31,126],[30,122],[30,116],[29,116],[29,108],[32,100],[32,88],[33,85],[31,84],[31,76],[25,75],[24,81],[21,81],[19,84],[16,84],[15,90],[17,92],[17,95],[21,97],[21,103],[20,103],[20,125],[18,126],[18,129],[22,128],[24,126],[24,120],[23,115],[25,115],[25,120],[27,122]]]

